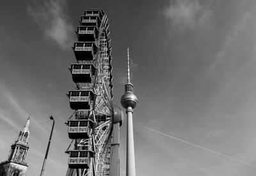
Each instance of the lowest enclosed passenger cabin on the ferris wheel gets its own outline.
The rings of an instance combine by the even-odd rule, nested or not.
[[[70,150],[68,151],[69,168],[89,168],[92,151],[90,150]]]

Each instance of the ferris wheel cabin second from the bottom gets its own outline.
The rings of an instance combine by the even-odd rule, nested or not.
[[[93,121],[88,119],[68,120],[67,125],[70,139],[88,139],[93,128]]]

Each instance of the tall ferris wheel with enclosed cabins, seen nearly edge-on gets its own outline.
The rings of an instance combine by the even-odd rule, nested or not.
[[[74,42],[76,63],[70,71],[76,88],[68,91],[74,114],[68,126],[68,176],[111,175],[116,141],[113,131],[122,125],[122,110],[112,103],[111,47],[108,18],[103,10],[86,10]],[[118,126],[117,130],[114,126]],[[115,166],[114,166],[115,168]]]

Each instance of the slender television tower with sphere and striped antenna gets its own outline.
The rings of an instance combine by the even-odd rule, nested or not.
[[[136,107],[138,99],[133,93],[132,88],[133,85],[130,81],[129,48],[127,48],[127,84],[125,84],[125,92],[121,98],[121,104],[126,109],[127,114],[126,176],[136,176],[132,127],[132,109]]]

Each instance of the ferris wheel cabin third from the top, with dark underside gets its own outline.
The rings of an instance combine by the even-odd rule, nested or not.
[[[97,26],[78,26],[76,34],[79,41],[95,41],[99,34],[99,28]]]

